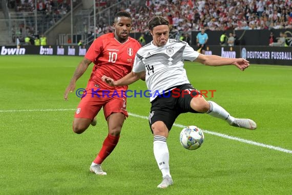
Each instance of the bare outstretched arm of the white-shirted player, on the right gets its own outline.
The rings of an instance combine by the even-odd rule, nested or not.
[[[203,55],[199,54],[195,62],[199,62],[206,66],[225,66],[235,65],[240,70],[244,71],[249,66],[249,62],[243,58],[228,58],[218,55]]]

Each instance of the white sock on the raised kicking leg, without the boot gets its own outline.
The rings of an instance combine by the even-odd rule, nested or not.
[[[206,112],[207,114],[210,114],[211,116],[214,116],[219,119],[223,119],[228,124],[234,122],[235,118],[231,116],[224,108],[222,108],[221,106],[212,101],[208,101],[208,103],[210,104],[210,110]]]

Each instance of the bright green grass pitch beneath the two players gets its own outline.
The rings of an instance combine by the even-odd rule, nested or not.
[[[99,177],[89,166],[107,135],[98,125],[74,134],[79,98],[64,91],[82,57],[0,56],[0,194],[292,194],[292,67],[251,65],[207,67],[186,62],[193,86],[216,90],[212,100],[238,118],[251,118],[254,131],[206,114],[181,114],[168,139],[174,185],[161,182],[146,116],[147,97],[128,99],[131,113],[120,141]],[[85,88],[92,65],[77,82]],[[131,90],[145,90],[138,81]],[[198,150],[179,143],[182,126],[205,130]],[[223,136],[218,136],[221,133]],[[229,139],[230,135],[236,140]],[[282,148],[282,150],[281,150]]]

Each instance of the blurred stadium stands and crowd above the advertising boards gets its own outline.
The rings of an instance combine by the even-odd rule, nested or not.
[[[292,37],[291,1],[273,0],[2,0],[0,4],[0,45],[25,44],[30,38],[46,38],[48,45],[90,45],[94,38],[112,31],[117,11],[127,10],[133,17],[131,36],[143,33],[151,41],[147,24],[151,17],[167,17],[171,38],[185,39],[195,45],[196,34],[202,29],[208,45],[219,45],[220,35],[235,33],[237,45],[269,45],[270,32],[275,42],[284,33],[287,45]],[[183,36],[183,37],[182,37]],[[18,38],[18,41],[17,41]]]

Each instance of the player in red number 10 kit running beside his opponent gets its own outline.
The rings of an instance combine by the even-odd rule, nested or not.
[[[114,33],[103,34],[92,43],[84,59],[77,66],[64,94],[67,101],[69,92],[73,92],[76,87],[76,81],[93,62],[94,66],[86,91],[74,115],[73,131],[80,134],[90,124],[95,126],[96,115],[103,107],[109,133],[90,166],[90,171],[98,175],[107,174],[102,171],[101,163],[117,145],[123,122],[128,116],[127,99],[123,93],[128,86],[110,87],[102,82],[101,76],[109,75],[113,79],[119,80],[130,73],[136,52],[141,47],[138,41],[129,37],[132,28],[132,18],[129,12],[117,12],[113,27]]]

